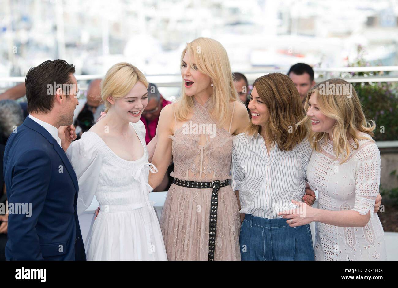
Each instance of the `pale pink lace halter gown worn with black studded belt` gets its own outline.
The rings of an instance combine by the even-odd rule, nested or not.
[[[170,135],[174,160],[174,172],[170,175],[180,180],[203,182],[230,179],[233,135],[217,127],[211,119],[209,100],[203,106],[196,100],[194,102],[192,119]],[[176,120],[175,114],[174,118]],[[198,145],[201,135],[198,134],[199,129],[195,131],[194,124],[209,128],[207,131],[211,133],[206,135],[205,145]],[[211,188],[196,189],[175,184],[170,187],[160,219],[169,260],[207,260],[211,193]],[[215,260],[240,260],[239,232],[240,217],[235,193],[230,185],[221,187]]]

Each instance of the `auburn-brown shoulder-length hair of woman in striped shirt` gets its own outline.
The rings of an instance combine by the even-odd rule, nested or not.
[[[271,73],[259,77],[254,81],[253,87],[267,106],[269,120],[264,129],[267,141],[271,145],[277,144],[282,151],[291,151],[307,136],[305,127],[295,127],[295,124],[304,116],[300,102],[300,94],[293,81],[282,73]],[[250,124],[245,133],[261,135],[262,126]]]

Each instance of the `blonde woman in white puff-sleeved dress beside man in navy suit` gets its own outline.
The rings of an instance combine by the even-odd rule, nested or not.
[[[79,182],[78,215],[94,195],[100,212],[86,242],[87,260],[167,260],[158,218],[149,202],[145,128],[148,82],[128,63],[112,66],[101,83],[107,114],[66,154]]]

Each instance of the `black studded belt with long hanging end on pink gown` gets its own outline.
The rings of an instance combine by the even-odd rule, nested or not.
[[[209,257],[207,260],[213,261],[216,251],[216,228],[217,228],[217,209],[219,203],[219,190],[221,187],[229,185],[229,180],[223,182],[215,180],[213,182],[195,182],[195,181],[183,181],[174,178],[174,184],[189,188],[212,188],[213,192],[211,194],[211,209],[210,209],[210,219],[209,219]]]

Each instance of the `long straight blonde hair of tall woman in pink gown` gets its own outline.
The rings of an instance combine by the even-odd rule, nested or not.
[[[208,75],[213,82],[213,95],[211,95],[210,111],[214,121],[222,125],[228,119],[229,102],[238,101],[232,79],[231,66],[225,48],[218,41],[210,38],[197,38],[181,53],[181,65],[188,52],[190,64],[195,63],[197,70]],[[193,97],[185,94],[184,81],[181,83],[181,97],[176,109],[176,117],[180,121],[188,120],[193,110]]]

